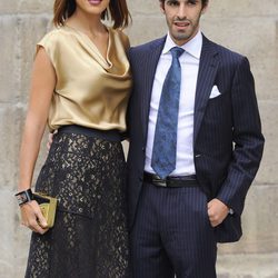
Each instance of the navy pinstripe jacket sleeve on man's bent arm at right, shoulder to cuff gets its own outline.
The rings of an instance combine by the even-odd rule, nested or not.
[[[217,196],[241,215],[247,191],[258,171],[264,150],[260,116],[249,61],[242,58],[231,88],[234,151],[227,178]]]

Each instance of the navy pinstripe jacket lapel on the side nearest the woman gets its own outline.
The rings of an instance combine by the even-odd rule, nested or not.
[[[145,61],[142,62],[143,68],[142,70],[142,88],[143,91],[141,91],[141,121],[142,121],[142,129],[143,129],[143,138],[147,138],[147,131],[148,131],[148,121],[149,121],[149,108],[150,108],[150,99],[151,99],[151,91],[155,80],[155,75],[157,70],[157,64],[161,54],[161,51],[165,46],[166,37],[158,39],[153,41],[149,46],[149,50],[146,53]]]

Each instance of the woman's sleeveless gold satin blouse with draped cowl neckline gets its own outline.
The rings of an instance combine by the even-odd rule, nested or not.
[[[39,46],[46,49],[56,70],[50,130],[80,125],[101,130],[126,130],[126,110],[131,87],[127,59],[129,40],[107,28],[109,42],[105,59],[90,38],[68,26],[47,33]]]

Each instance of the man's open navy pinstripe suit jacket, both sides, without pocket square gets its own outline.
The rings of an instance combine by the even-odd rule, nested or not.
[[[150,97],[165,41],[166,37],[129,51],[133,75],[127,115],[130,228],[142,187]],[[221,93],[210,99],[214,86]],[[193,155],[197,179],[208,200],[218,198],[235,211],[215,229],[219,242],[241,237],[240,215],[261,160],[264,141],[247,58],[203,36],[196,89]]]

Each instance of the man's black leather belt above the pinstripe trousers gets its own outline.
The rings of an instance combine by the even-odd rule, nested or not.
[[[161,179],[159,176],[150,172],[143,172],[143,181],[150,182],[158,187],[198,187],[196,175],[166,177]]]

